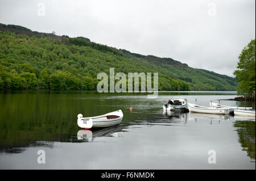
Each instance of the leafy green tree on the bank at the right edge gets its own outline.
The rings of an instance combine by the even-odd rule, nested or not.
[[[255,90],[255,39],[243,48],[238,58],[238,70],[233,73],[238,81],[237,93],[250,95]]]

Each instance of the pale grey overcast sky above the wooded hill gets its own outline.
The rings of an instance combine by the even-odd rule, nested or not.
[[[9,0],[0,1],[0,23],[233,76],[241,50],[255,39],[255,0]]]

